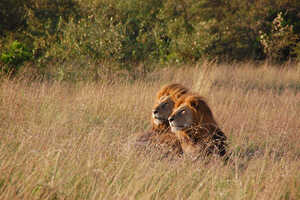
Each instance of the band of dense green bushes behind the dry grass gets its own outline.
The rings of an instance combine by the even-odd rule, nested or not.
[[[2,0],[0,67],[56,79],[202,59],[300,59],[298,0]],[[28,64],[29,63],[29,64]]]

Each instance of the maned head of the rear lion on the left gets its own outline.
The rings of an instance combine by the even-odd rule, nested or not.
[[[183,85],[174,83],[164,86],[158,93],[156,103],[152,110],[152,123],[154,126],[169,126],[168,118],[172,113],[178,98],[186,94],[188,89]]]

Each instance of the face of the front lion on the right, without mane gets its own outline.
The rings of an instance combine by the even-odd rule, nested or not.
[[[182,105],[177,108],[169,117],[171,131],[176,133],[190,128],[193,125],[193,116],[193,110],[189,106]]]

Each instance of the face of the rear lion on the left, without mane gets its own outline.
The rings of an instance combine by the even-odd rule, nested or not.
[[[168,118],[173,111],[175,102],[170,96],[163,96],[159,99],[158,104],[152,110],[153,122],[160,125],[168,122]]]

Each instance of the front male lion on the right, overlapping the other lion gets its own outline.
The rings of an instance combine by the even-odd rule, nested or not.
[[[203,97],[181,96],[168,120],[185,154],[195,159],[201,155],[226,154],[227,138]]]

